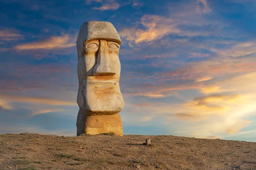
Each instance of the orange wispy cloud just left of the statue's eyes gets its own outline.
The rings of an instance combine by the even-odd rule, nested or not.
[[[68,34],[59,37],[50,37],[47,40],[29,42],[25,44],[16,45],[16,50],[32,50],[32,49],[54,49],[54,48],[68,48],[76,45],[70,42],[70,36]]]

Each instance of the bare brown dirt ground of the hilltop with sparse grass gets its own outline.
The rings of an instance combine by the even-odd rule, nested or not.
[[[151,139],[147,146],[145,139]],[[0,135],[0,170],[256,170],[256,142],[178,136]]]

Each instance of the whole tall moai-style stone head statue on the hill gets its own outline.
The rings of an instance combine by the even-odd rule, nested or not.
[[[124,101],[119,87],[121,39],[109,22],[82,24],[77,36],[79,90],[77,136],[113,132],[122,136],[119,112]]]

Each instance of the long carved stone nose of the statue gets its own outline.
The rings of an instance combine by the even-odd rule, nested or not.
[[[116,71],[111,63],[107,41],[100,40],[97,62],[93,68],[93,76],[108,76],[114,74],[116,74]]]

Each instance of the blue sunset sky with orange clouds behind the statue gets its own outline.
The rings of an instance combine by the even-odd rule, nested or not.
[[[256,142],[255,0],[0,0],[0,134],[76,136],[76,38],[122,44],[123,133]]]

